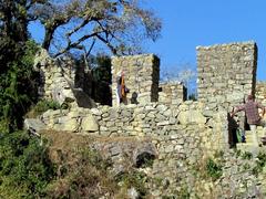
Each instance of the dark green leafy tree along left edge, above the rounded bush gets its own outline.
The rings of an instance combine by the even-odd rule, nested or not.
[[[33,20],[28,10],[35,1],[0,1],[0,129],[22,126],[22,116],[35,101],[32,71],[37,45],[29,41],[27,27]]]

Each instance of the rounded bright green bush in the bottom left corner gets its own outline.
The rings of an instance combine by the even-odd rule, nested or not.
[[[1,134],[0,138],[0,198],[44,196],[54,166],[48,156],[48,147],[24,132]],[[13,190],[17,190],[13,192]]]

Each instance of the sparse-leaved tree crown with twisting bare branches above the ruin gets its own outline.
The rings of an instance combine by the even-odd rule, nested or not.
[[[140,0],[39,0],[29,15],[43,24],[42,46],[54,56],[72,50],[89,56],[101,43],[113,54],[140,53],[141,42],[155,41],[162,25]]]

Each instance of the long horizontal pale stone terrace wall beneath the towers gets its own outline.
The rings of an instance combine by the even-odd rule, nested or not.
[[[226,113],[211,113],[204,104],[192,101],[171,106],[150,103],[49,111],[42,115],[42,121],[51,129],[72,133],[106,137],[171,137],[170,148],[181,144],[188,154],[195,148],[212,153],[227,147]]]

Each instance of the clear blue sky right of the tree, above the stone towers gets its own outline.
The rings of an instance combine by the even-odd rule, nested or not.
[[[144,0],[162,19],[162,38],[145,49],[161,57],[161,67],[196,69],[197,45],[255,41],[257,80],[266,80],[266,0]],[[43,35],[34,25],[34,38]],[[32,31],[32,27],[30,29]]]

